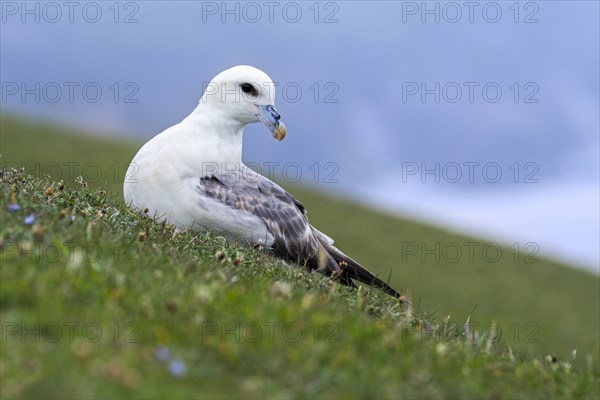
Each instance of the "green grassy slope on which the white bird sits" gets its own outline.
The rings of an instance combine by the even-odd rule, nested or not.
[[[403,244],[481,241],[287,187],[341,249],[393,270],[403,308],[130,213],[119,193],[139,144],[3,115],[0,146],[3,398],[600,396],[597,276],[508,249],[422,261]],[[47,167],[65,162],[82,169]],[[102,175],[82,187],[92,162]],[[10,172],[21,164],[37,177]]]

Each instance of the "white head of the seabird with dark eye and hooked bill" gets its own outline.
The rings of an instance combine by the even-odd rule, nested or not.
[[[238,65],[221,72],[207,85],[199,107],[218,110],[243,125],[260,121],[277,140],[286,134],[275,109],[275,84],[258,68]]]

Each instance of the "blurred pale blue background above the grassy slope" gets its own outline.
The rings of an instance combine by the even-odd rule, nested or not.
[[[244,158],[285,187],[599,272],[599,3],[467,4],[2,1],[2,111],[145,141],[253,65],[288,137]]]

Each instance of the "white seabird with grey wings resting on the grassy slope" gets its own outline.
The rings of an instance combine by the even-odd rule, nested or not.
[[[125,176],[126,204],[181,229],[210,230],[260,245],[288,261],[355,286],[353,279],[401,298],[308,222],[306,209],[242,163],[244,127],[263,122],[282,140],[275,85],[259,69],[237,66],[208,84],[196,109],[147,142]]]

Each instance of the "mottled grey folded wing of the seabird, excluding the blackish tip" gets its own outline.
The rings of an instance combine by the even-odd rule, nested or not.
[[[273,236],[270,250],[279,257],[327,275],[339,270],[315,237],[304,206],[276,183],[260,175],[252,179],[238,174],[210,175],[199,179],[197,190],[263,221]]]

